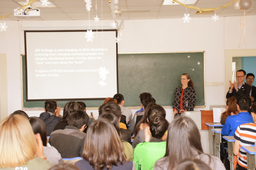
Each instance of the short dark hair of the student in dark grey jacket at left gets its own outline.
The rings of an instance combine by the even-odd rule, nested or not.
[[[89,116],[83,110],[78,110],[70,113],[68,117],[68,126],[74,126],[80,129],[84,124],[88,125]]]

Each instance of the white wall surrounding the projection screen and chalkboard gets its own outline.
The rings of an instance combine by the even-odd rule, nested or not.
[[[256,48],[255,21],[256,16],[246,17],[247,45],[241,43],[240,48]],[[91,27],[94,26],[95,23],[93,21],[91,23]],[[110,23],[111,21],[104,21],[104,28],[110,26]],[[10,114],[21,109],[20,54],[25,54],[25,50],[23,31],[21,31],[19,44],[19,25],[23,30],[85,29],[88,22],[22,21],[19,24],[17,21],[6,21],[6,24],[7,32],[0,32],[0,53],[7,54],[8,114]],[[221,17],[217,22],[211,20],[210,16],[209,18],[192,18],[190,23],[185,24],[181,19],[127,20],[125,28],[121,31],[124,35],[122,42],[118,45],[119,53],[205,51],[206,82],[224,82],[225,86],[224,50],[237,49],[239,45],[240,17]],[[21,45],[21,51],[19,45]],[[206,108],[195,110],[209,110],[210,105],[224,104],[224,86],[206,86]],[[132,110],[133,113],[135,111]],[[166,112],[167,119],[171,120],[173,117],[171,109],[166,109]],[[40,111],[28,113],[39,115]],[[95,110],[94,113],[97,111]]]

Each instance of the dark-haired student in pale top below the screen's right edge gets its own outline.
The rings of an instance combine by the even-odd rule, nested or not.
[[[125,98],[122,94],[115,94],[113,99],[117,100],[117,104],[120,106],[122,115],[126,116],[126,123],[130,124],[131,118],[132,118],[132,112],[131,110],[124,107],[125,105]]]

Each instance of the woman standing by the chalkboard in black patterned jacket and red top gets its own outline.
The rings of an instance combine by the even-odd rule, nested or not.
[[[174,116],[180,115],[185,111],[193,111],[196,104],[196,94],[194,84],[190,75],[184,73],[181,76],[181,84],[175,89],[174,100],[172,102]]]

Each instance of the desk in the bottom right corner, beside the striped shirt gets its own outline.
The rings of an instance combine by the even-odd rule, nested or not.
[[[251,146],[241,146],[242,149],[246,151],[247,156],[247,170],[255,170],[256,169],[256,148],[255,145]]]

